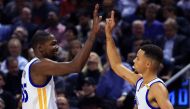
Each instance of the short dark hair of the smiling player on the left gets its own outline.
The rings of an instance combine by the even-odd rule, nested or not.
[[[42,30],[38,30],[32,38],[32,48],[36,48],[38,44],[46,42],[51,34]]]

